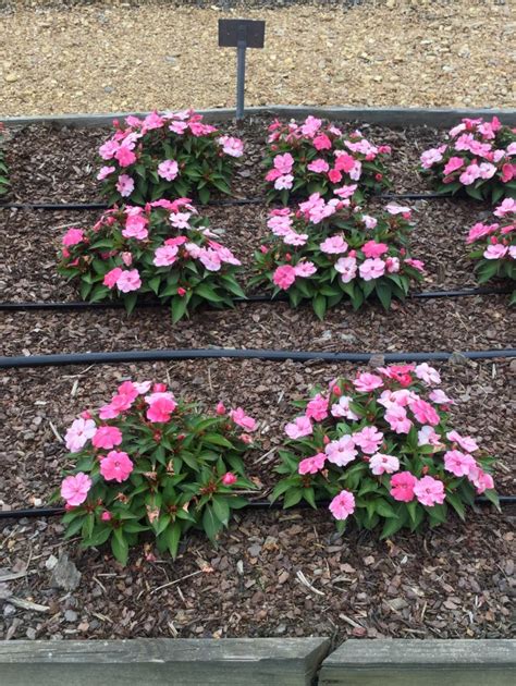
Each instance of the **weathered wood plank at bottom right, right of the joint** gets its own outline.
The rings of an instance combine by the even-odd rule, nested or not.
[[[348,640],[319,686],[514,686],[516,640]]]

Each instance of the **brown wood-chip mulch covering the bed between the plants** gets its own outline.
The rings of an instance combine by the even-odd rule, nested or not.
[[[243,132],[249,156],[238,170],[241,197],[259,193],[263,122]],[[395,149],[396,192],[428,189],[414,174],[420,151],[438,139],[429,130],[371,127],[368,135]],[[96,201],[98,130],[33,126],[8,146],[12,200]],[[379,205],[376,199],[373,205]],[[464,236],[487,211],[466,200],[418,201],[414,253],[427,262],[425,290],[475,284]],[[266,234],[263,205],[209,207],[212,225],[250,265]],[[56,274],[65,225],[96,217],[78,212],[0,212],[1,299],[76,299]],[[284,303],[202,310],[172,328],[165,309],[0,313],[2,355],[148,350],[158,347],[271,347],[405,352],[503,348],[514,345],[504,296],[407,301],[385,314],[372,304],[346,305],[324,321]],[[495,481],[514,492],[515,362],[438,365],[443,388],[457,400],[454,426],[499,457]],[[261,449],[248,471],[267,493],[273,482],[282,427],[292,402],[315,383],[353,373],[351,364],[198,360],[196,363],[12,369],[0,372],[0,507],[48,502],[65,467],[56,433],[86,407],[97,407],[125,378],[165,380],[186,399],[214,407],[243,405],[259,420]],[[8,519],[0,527],[0,568],[25,575],[0,583],[0,636],[7,638],[126,638],[136,636],[508,637],[514,602],[516,511],[470,512],[419,535],[378,541],[353,527],[339,538],[324,511],[243,512],[216,548],[193,534],[175,562],[153,561],[151,546],[135,549],[127,567],[109,551],[81,551],[64,542],[58,519]],[[66,552],[83,573],[75,591],[50,586],[53,558]],[[308,583],[308,586],[307,586]],[[161,586],[168,585],[164,588]],[[24,610],[22,598],[46,608]]]

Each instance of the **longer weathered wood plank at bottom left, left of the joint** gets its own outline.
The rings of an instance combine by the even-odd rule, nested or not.
[[[1,686],[309,686],[325,638],[0,641]]]

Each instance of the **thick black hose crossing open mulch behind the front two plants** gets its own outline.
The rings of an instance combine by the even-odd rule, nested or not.
[[[497,359],[516,357],[516,348],[494,351],[455,351],[453,353],[329,353],[310,351],[272,351],[231,347],[179,348],[153,351],[121,351],[118,353],[74,353],[58,355],[22,355],[0,357],[0,369],[21,367],[59,367],[64,365],[115,365],[121,363],[173,362],[182,359],[261,359],[265,362],[327,362],[327,363],[369,363],[381,358],[383,363],[405,362],[447,362],[459,359]]]

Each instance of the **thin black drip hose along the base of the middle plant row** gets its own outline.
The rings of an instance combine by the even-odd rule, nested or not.
[[[495,289],[464,289],[452,291],[422,291],[420,293],[409,293],[407,298],[410,299],[432,299],[439,297],[468,297],[472,295],[506,295],[512,292],[509,287]],[[279,294],[271,297],[267,294],[249,295],[248,297],[235,297],[233,303],[284,303],[288,298],[286,295]],[[145,307],[164,307],[159,301],[143,301],[136,304],[135,309]],[[121,301],[112,301],[109,303],[87,303],[82,301],[54,302],[54,301],[35,301],[33,303],[0,303],[0,311],[34,311],[34,310],[89,310],[89,309],[123,309],[124,304]]]

